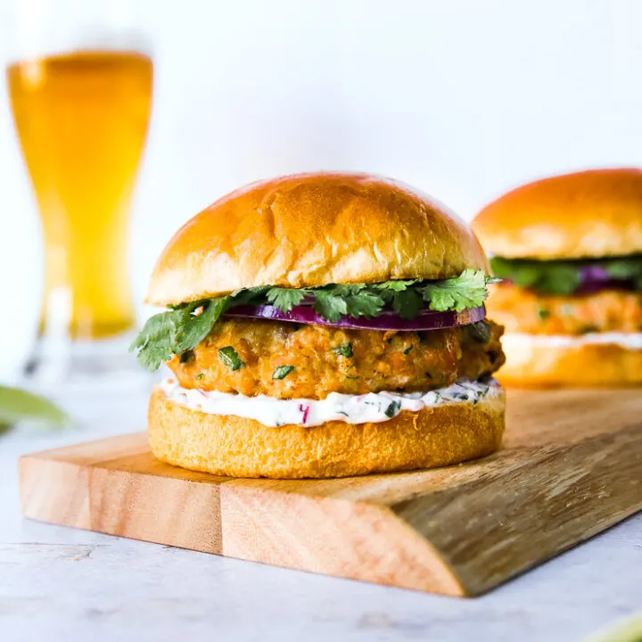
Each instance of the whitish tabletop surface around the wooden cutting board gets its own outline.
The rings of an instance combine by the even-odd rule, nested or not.
[[[520,640],[580,642],[642,610],[642,514],[490,594],[437,597],[21,517],[17,457],[144,427],[145,394],[60,397],[81,426],[0,437],[3,642]]]

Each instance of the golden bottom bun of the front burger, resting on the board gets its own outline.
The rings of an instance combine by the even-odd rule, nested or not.
[[[271,428],[253,419],[210,415],[166,399],[149,406],[153,454],[169,464],[232,477],[347,477],[458,464],[497,450],[506,395],[402,411],[379,424],[327,422]]]

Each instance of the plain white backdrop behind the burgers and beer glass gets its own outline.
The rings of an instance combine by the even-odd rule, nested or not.
[[[156,66],[132,219],[137,300],[177,226],[260,177],[373,171],[471,218],[534,177],[642,165],[638,0],[140,6]],[[2,377],[31,341],[42,268],[4,86],[0,199]]]

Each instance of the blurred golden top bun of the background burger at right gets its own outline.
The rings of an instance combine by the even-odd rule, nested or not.
[[[589,169],[522,185],[473,230],[491,255],[583,259],[642,252],[642,170]]]

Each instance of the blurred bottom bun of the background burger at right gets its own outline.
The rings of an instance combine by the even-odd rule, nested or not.
[[[506,333],[499,383],[523,387],[609,387],[642,384],[642,350],[616,343],[556,345],[547,335]]]

